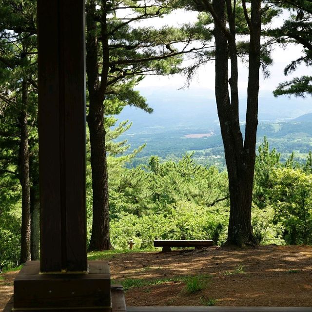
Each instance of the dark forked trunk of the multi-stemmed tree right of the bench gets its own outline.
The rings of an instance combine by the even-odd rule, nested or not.
[[[243,142],[239,127],[235,17],[229,0],[214,0],[215,97],[229,176],[230,219],[227,244],[254,245],[251,206],[254,180],[260,66],[260,0],[252,1],[246,132]],[[226,5],[227,4],[227,5]],[[230,32],[226,29],[226,7]],[[248,16],[246,16],[247,19]],[[228,56],[231,78],[228,77]],[[231,99],[229,86],[231,87]]]

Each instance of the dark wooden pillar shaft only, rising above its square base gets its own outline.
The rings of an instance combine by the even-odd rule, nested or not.
[[[87,271],[84,0],[38,0],[41,272]]]

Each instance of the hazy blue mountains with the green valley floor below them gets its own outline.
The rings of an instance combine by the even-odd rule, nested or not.
[[[240,100],[245,103],[244,99]],[[217,117],[215,100],[204,94],[191,97],[188,92],[159,92],[148,95],[148,102],[154,108],[147,114],[134,107],[126,107],[118,119],[129,119],[133,126],[118,139],[128,139],[132,148],[146,143],[137,156],[146,158],[157,155],[162,158],[180,157],[185,152],[195,151],[194,157],[200,163],[222,167],[223,143]],[[246,107],[241,104],[241,111]],[[244,135],[244,117],[241,114]],[[186,135],[205,134],[213,131],[211,137]],[[259,99],[258,144],[267,137],[271,147],[280,153],[308,153],[312,150],[312,104],[298,98],[274,98],[267,95]],[[143,157],[143,158],[142,158]],[[216,159],[217,157],[218,159]],[[145,159],[146,161],[146,159]],[[137,163],[140,159],[137,159]]]

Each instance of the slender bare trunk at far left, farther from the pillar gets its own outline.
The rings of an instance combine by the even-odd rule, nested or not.
[[[28,123],[27,102],[28,84],[22,81],[22,106],[20,112],[20,150],[19,150],[19,176],[22,189],[21,204],[21,250],[20,263],[30,260],[30,179],[29,179],[29,146],[28,146]]]

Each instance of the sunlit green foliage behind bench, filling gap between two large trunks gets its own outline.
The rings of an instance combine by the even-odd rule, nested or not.
[[[160,163],[152,156],[148,166],[120,168],[111,175],[111,240],[125,249],[149,248],[159,239],[226,239],[227,179],[215,167],[195,164],[191,155],[177,163]],[[118,183],[116,183],[118,182]]]

